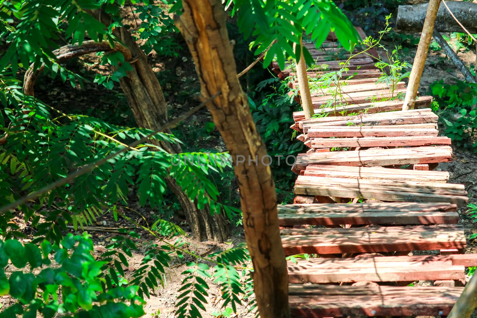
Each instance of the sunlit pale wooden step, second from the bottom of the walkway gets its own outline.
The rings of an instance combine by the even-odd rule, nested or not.
[[[477,259],[474,258],[475,264]],[[463,265],[451,259],[429,256],[376,256],[356,258],[310,258],[287,262],[288,280],[300,283],[398,282],[415,280],[459,280],[465,284]]]

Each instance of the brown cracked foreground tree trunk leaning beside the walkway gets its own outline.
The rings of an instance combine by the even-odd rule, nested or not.
[[[260,317],[288,318],[288,276],[275,184],[264,164],[269,160],[262,162],[267,150],[237,78],[224,8],[218,0],[183,0],[183,6],[175,21],[196,63],[202,99],[221,92],[207,107],[234,160]],[[245,162],[237,160],[241,156]]]

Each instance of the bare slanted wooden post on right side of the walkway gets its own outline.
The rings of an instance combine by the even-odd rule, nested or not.
[[[409,76],[409,83],[407,84],[406,97],[403,103],[403,111],[414,109],[414,104],[421,81],[422,72],[424,71],[424,63],[429,51],[429,44],[431,43],[432,31],[434,30],[434,23],[436,22],[437,10],[441,0],[430,0],[427,6],[427,13],[425,14],[424,27],[422,28],[421,39],[417,46],[416,56],[414,58],[413,69]]]

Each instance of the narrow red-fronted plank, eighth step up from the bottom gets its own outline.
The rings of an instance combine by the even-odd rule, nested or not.
[[[352,138],[312,138],[312,148],[333,147],[404,147],[450,145],[448,137],[407,136],[407,137],[352,137]]]

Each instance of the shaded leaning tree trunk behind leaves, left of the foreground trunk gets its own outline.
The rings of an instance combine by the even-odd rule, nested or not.
[[[104,25],[109,25],[111,20],[104,12],[101,14],[98,10],[89,10],[88,12]],[[131,63],[133,70],[127,72],[127,77],[120,79],[120,85],[133,111],[136,123],[139,127],[157,130],[167,123],[166,100],[161,85],[147,62],[147,56],[131,34],[124,28],[116,28],[114,35],[131,51],[133,61],[135,61]],[[166,131],[166,133],[170,133],[170,131]],[[156,140],[151,142],[157,143]],[[182,152],[179,144],[160,142],[158,145],[169,153]],[[229,231],[223,215],[211,216],[207,209],[197,209],[197,206],[187,198],[187,195],[176,185],[174,180],[167,179],[166,182],[177,195],[192,236],[201,241],[227,240]]]

